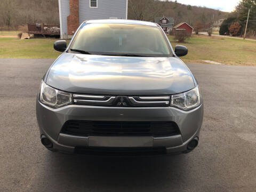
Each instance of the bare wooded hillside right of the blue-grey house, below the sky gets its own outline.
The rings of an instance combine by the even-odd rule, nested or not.
[[[209,23],[225,19],[228,15],[220,10],[184,5],[177,1],[129,0],[128,4],[128,19],[154,21],[154,17],[173,17],[174,25],[187,22],[194,26],[200,21],[207,28]]]

